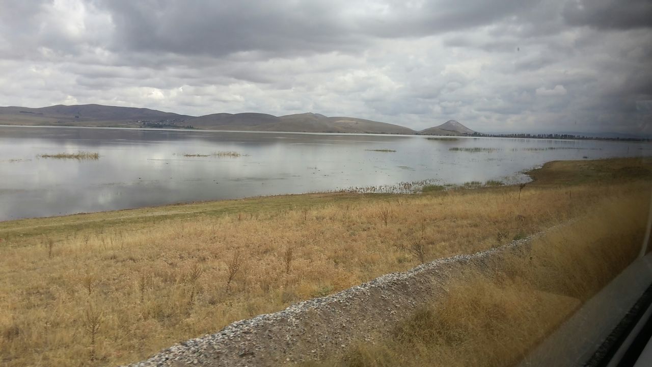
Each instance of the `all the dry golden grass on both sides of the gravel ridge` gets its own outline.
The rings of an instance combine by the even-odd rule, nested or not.
[[[460,353],[505,360],[533,342],[498,336],[536,318],[540,300],[550,298],[559,304],[556,314],[567,314],[630,261],[629,245],[614,251],[612,244],[639,241],[651,172],[641,159],[557,162],[533,171],[536,181],[521,192],[497,186],[422,195],[286,195],[1,222],[0,361],[132,362],[238,319],[576,219],[584,227],[533,246],[531,266],[514,259],[504,272],[460,279],[447,304],[426,307],[398,327],[387,343],[411,347],[386,348],[381,357],[389,364],[364,357],[375,348],[369,345],[342,363],[419,365]],[[540,334],[559,322],[540,319],[531,324]],[[421,323],[433,327],[419,334]],[[493,333],[486,345],[509,345],[487,352],[484,342],[470,338],[482,331]],[[527,332],[510,338],[518,342]],[[451,347],[466,337],[469,342]],[[433,340],[441,348],[424,346]]]

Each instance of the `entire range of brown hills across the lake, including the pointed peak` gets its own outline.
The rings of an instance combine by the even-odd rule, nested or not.
[[[80,104],[57,104],[41,108],[19,106],[0,107],[3,125],[55,125],[95,127],[167,127],[231,131],[295,131],[306,133],[372,133],[402,135],[472,135],[458,121],[449,120],[437,127],[414,131],[408,127],[351,117],[327,117],[304,113],[273,116],[247,112],[242,114],[209,114],[189,116],[151,110]]]

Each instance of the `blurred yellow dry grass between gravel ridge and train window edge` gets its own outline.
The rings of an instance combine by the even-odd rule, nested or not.
[[[595,200],[568,225],[496,268],[469,268],[447,296],[424,305],[375,344],[328,366],[514,366],[638,255],[649,185]]]

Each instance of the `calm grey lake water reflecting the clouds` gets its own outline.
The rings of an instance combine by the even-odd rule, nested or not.
[[[636,156],[648,147],[589,140],[0,126],[0,221],[352,187],[392,191],[401,189],[398,183],[422,180],[518,182],[527,180],[520,172],[546,161]],[[78,151],[98,152],[100,158],[38,157]],[[220,151],[242,155],[211,155]]]

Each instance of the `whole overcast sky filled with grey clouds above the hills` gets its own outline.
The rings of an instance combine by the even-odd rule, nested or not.
[[[649,0],[0,0],[0,105],[652,135]]]

